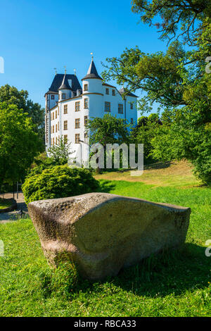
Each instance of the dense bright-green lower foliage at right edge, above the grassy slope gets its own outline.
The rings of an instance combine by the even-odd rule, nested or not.
[[[152,154],[162,161],[187,158],[195,175],[211,184],[211,130],[203,122],[202,108],[184,107],[174,112],[171,125],[158,127],[151,144]],[[206,120],[205,120],[206,121]]]

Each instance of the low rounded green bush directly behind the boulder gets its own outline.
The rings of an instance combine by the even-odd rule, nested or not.
[[[56,165],[37,175],[27,177],[23,184],[26,203],[37,200],[76,196],[99,189],[98,181],[84,168]]]

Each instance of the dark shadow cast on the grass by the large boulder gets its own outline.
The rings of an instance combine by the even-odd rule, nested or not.
[[[79,279],[74,292],[102,292],[106,287],[122,288],[139,296],[179,295],[186,290],[208,286],[210,259],[205,248],[185,244],[182,249],[165,251],[142,260],[136,266],[121,270],[116,277],[102,282]]]

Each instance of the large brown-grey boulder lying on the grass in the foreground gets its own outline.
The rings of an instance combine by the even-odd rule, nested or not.
[[[117,275],[141,258],[179,246],[191,213],[107,193],[34,201],[28,210],[49,263],[72,261],[90,280]]]

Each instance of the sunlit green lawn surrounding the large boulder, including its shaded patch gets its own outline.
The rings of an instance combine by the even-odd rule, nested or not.
[[[30,220],[0,225],[0,316],[211,316],[211,189],[101,180],[102,190],[191,207],[186,244],[104,282],[52,271]],[[71,277],[70,277],[71,275]]]

